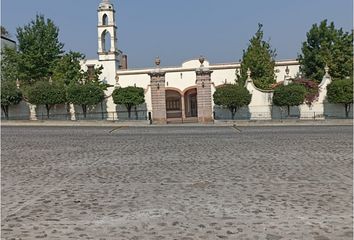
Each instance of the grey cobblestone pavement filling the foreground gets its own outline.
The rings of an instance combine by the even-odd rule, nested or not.
[[[352,127],[3,127],[2,239],[352,239]]]

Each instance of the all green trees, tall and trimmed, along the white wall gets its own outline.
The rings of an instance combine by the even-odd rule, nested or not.
[[[243,52],[240,72],[237,73],[237,82],[241,87],[235,86],[222,90],[222,93],[221,90],[216,93],[215,103],[231,106],[228,108],[233,116],[240,106],[247,105],[250,101],[247,90],[241,89],[248,77],[248,69],[251,70],[256,87],[260,89],[271,89],[276,82],[276,51],[271,48],[269,42],[263,40],[262,27],[259,24],[247,50]],[[7,31],[2,28],[1,32],[6,34]],[[111,86],[99,80],[102,67],[83,71],[80,62],[84,55],[72,51],[65,53],[64,44],[59,41],[58,36],[58,27],[50,19],[40,15],[28,25],[17,29],[18,49],[5,48],[1,61],[1,107],[6,116],[9,105],[18,104],[21,99],[32,104],[45,105],[48,116],[53,105],[70,103],[81,105],[86,116],[89,106],[104,99],[104,90]],[[336,29],[333,23],[328,25],[326,20],[319,25],[314,24],[307,33],[307,41],[303,43],[302,54],[299,55],[303,78],[288,86],[279,85],[275,89],[274,103],[294,106],[302,100],[311,104],[318,94],[316,84],[322,79],[324,66],[328,64],[329,73],[333,77],[333,84],[328,88],[328,100],[345,104],[348,113],[353,100],[350,94],[344,93],[352,86],[352,78],[347,79],[353,75],[352,52],[353,33]],[[21,80],[20,89],[16,86],[17,79]],[[143,89],[139,88],[116,90],[113,92],[113,99],[116,104],[124,104],[130,115],[132,107],[143,102],[142,92]],[[299,93],[297,95],[301,97],[294,100],[296,103],[289,103],[289,96],[295,96],[295,93]],[[221,104],[220,99],[224,98],[224,95],[225,99],[234,96],[236,99],[227,101],[238,103]],[[304,99],[302,95],[305,96]]]

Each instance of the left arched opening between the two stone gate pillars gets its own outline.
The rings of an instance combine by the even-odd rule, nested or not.
[[[176,90],[166,90],[166,117],[182,118],[182,95]]]

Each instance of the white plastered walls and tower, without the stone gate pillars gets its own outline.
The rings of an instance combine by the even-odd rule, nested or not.
[[[105,47],[107,39],[104,38],[104,35],[106,33],[109,33],[110,35],[109,49],[106,49]],[[182,99],[184,98],[184,94],[191,89],[196,89],[196,70],[201,67],[201,63],[198,59],[188,60],[182,63],[181,66],[176,67],[153,66],[144,69],[119,69],[120,52],[118,51],[117,45],[115,10],[113,4],[108,0],[103,0],[98,9],[98,55],[98,60],[87,60],[83,62],[83,68],[85,69],[87,65],[95,65],[96,67],[102,65],[104,69],[101,75],[101,80],[114,85],[115,87],[136,86],[144,88],[146,101],[145,108],[147,112],[152,112],[153,110],[150,74],[156,71],[157,68],[159,71],[165,73],[164,89],[166,89],[166,91],[179,93]],[[213,64],[209,61],[204,61],[203,66],[212,71],[210,76],[211,95],[215,92],[218,86],[226,83],[235,83],[237,81],[236,73],[239,72],[240,63]],[[298,76],[299,63],[297,60],[277,61],[274,71],[276,82],[284,81],[286,84],[288,79]],[[329,79],[328,76],[325,76],[325,78]],[[297,111],[302,113],[304,118],[312,116],[314,112],[316,112],[318,116],[323,116],[323,103],[326,96],[326,86],[329,82],[330,80],[326,80],[321,83],[320,97],[313,106],[308,107],[304,104],[298,108]],[[251,104],[245,109],[249,119],[271,119],[274,115],[274,107],[272,106],[273,91],[257,89],[251,79],[246,82],[246,88],[252,94]],[[112,97],[110,97],[113,90],[114,88],[110,88],[106,92],[106,111],[115,112],[115,114],[117,114],[117,106],[113,103]],[[182,104],[186,104],[185,107],[187,108],[186,101],[186,99],[181,100]],[[220,107],[214,106],[212,97],[211,101],[213,111],[215,109],[220,110]],[[184,109],[184,107],[182,107],[182,109]],[[185,116],[185,114],[183,113],[182,116]]]

